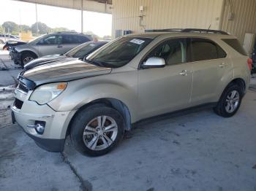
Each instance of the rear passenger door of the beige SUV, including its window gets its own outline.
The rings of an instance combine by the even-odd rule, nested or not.
[[[210,39],[189,39],[189,61],[193,68],[193,105],[214,101],[225,74],[232,71],[227,53]]]

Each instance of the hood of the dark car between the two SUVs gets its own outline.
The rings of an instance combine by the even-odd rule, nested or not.
[[[34,59],[33,61],[30,61],[24,66],[24,69],[25,70],[33,69],[34,67],[42,66],[47,63],[55,63],[56,61],[62,61],[65,58],[68,58],[68,57],[66,55],[45,55],[41,58],[37,58],[37,59]]]

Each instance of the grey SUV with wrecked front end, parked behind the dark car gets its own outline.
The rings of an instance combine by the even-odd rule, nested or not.
[[[75,32],[58,32],[37,37],[28,44],[18,45],[12,51],[12,59],[20,66],[44,55],[64,54],[79,44],[91,41],[89,35]]]

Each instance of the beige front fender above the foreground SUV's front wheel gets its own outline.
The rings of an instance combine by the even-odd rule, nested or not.
[[[78,110],[80,107],[101,98],[114,98],[123,102],[131,114],[132,122],[138,119],[138,81],[134,77],[114,81],[116,75],[103,75],[68,82],[67,90],[64,90],[58,98],[50,101],[49,106],[56,111]],[[105,79],[105,76],[110,78]],[[128,75],[129,76],[129,75]],[[128,78],[127,76],[127,78]]]

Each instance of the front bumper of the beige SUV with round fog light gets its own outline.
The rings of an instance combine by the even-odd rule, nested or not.
[[[62,152],[69,122],[74,111],[56,112],[47,104],[29,101],[32,91],[15,90],[12,104],[12,122],[28,134],[39,147],[50,152]]]

